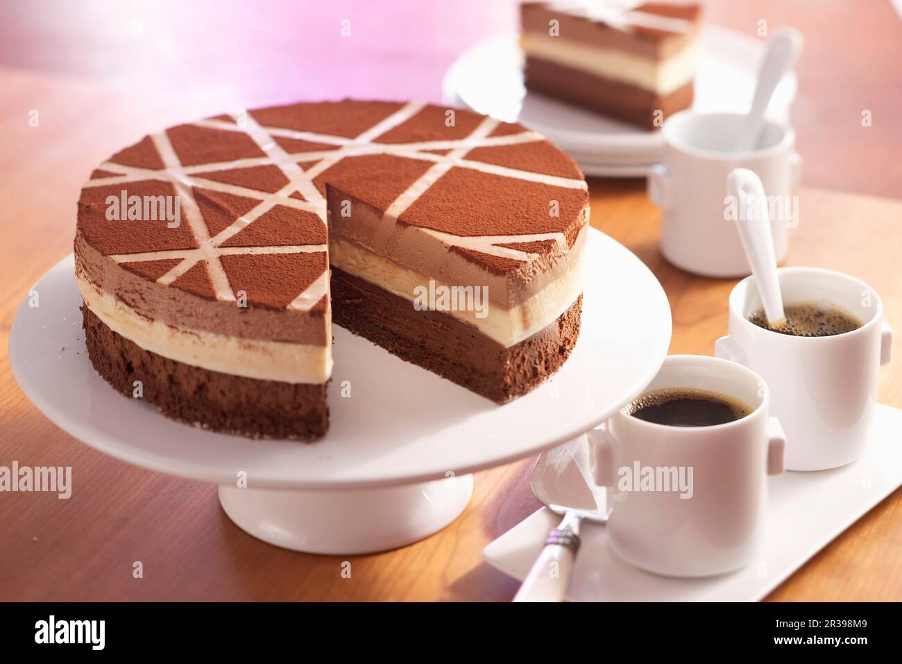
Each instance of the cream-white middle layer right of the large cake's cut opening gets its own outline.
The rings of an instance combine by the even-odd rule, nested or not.
[[[418,299],[420,289],[429,289],[429,277],[400,267],[387,258],[376,256],[364,248],[338,238],[329,239],[329,262],[352,276],[377,285],[392,295],[410,300],[410,306]],[[433,282],[435,287],[449,287]],[[583,292],[583,256],[576,257],[567,271],[536,295],[512,309],[502,309],[483,301],[482,313],[475,310],[451,310],[437,306],[459,321],[473,325],[485,336],[502,346],[511,346],[528,339],[554,323]],[[440,303],[438,303],[440,304]],[[477,315],[479,314],[479,315]]]

